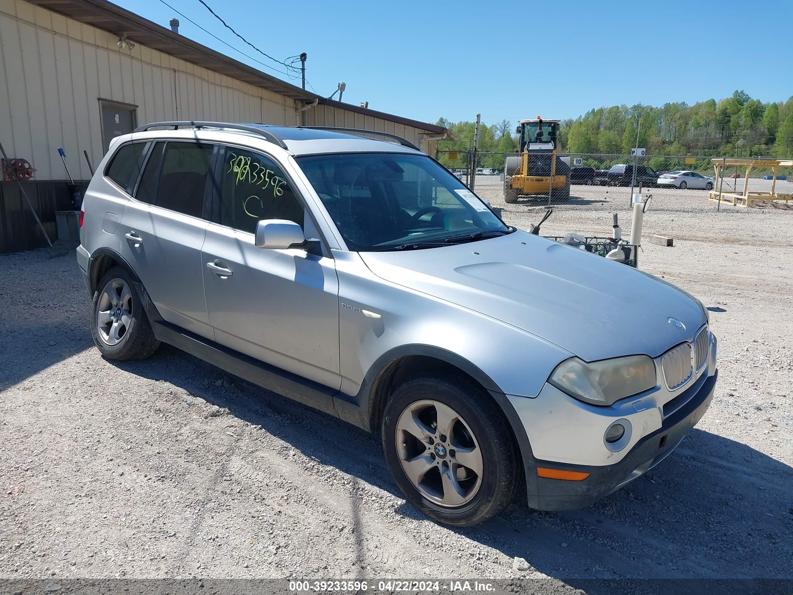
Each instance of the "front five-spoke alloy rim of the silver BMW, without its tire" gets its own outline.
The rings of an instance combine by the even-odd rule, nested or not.
[[[481,448],[449,405],[430,400],[408,405],[397,420],[397,451],[413,486],[436,504],[461,506],[479,491]]]

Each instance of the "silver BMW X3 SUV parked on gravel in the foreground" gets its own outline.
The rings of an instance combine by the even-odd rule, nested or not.
[[[77,250],[98,349],[172,344],[379,433],[408,501],[448,524],[523,485],[535,509],[590,505],[665,459],[714,393],[703,305],[504,224],[371,136],[389,137],[161,122],[113,140]]]

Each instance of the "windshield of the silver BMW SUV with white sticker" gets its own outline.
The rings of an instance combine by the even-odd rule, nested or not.
[[[434,248],[511,231],[427,156],[333,153],[296,160],[354,251]]]

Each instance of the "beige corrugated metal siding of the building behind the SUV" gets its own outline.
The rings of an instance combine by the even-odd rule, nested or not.
[[[0,141],[36,179],[90,178],[85,149],[102,159],[99,100],[136,106],[138,124],[219,120],[299,124],[292,99],[136,44],[24,0],[0,0]],[[306,112],[308,125],[392,132],[419,145],[423,131],[331,106]]]

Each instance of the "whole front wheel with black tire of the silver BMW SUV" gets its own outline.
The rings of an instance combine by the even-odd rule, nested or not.
[[[439,523],[482,523],[515,496],[522,465],[508,422],[467,378],[444,374],[405,382],[385,405],[382,440],[405,497]]]

